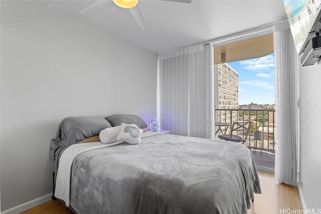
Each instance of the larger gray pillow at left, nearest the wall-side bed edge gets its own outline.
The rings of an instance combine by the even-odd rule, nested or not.
[[[87,137],[98,135],[108,127],[111,127],[110,123],[100,116],[66,117],[60,122],[56,137],[59,145],[67,148]]]

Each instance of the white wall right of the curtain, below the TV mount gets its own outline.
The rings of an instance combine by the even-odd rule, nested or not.
[[[300,180],[303,208],[321,208],[321,61],[299,71]]]

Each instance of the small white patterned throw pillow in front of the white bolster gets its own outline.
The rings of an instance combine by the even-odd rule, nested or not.
[[[121,123],[121,131],[117,136],[117,140],[122,140],[129,144],[140,144],[141,133],[142,130],[136,124]]]

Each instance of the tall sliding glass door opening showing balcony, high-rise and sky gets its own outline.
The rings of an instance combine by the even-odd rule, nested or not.
[[[246,138],[244,145],[251,149],[259,170],[274,173],[273,34],[214,44],[213,63],[215,139],[230,134],[234,122],[250,121],[248,133],[233,134]]]

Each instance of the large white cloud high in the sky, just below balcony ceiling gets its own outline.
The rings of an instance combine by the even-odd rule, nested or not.
[[[274,56],[266,55],[260,58],[244,60],[240,64],[251,71],[271,71],[274,70]]]

